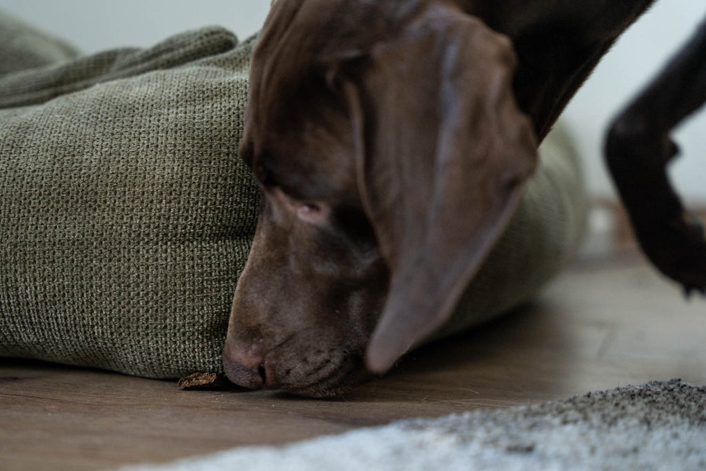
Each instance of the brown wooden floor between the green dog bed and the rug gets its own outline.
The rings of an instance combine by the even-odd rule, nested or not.
[[[706,383],[706,302],[685,302],[628,254],[571,267],[532,306],[414,352],[337,400],[186,392],[171,382],[0,359],[0,470],[164,462],[675,377]]]

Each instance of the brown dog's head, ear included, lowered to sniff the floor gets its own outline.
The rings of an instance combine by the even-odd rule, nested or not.
[[[224,367],[332,395],[450,316],[536,162],[510,42],[431,1],[277,0],[241,157],[263,191]]]

